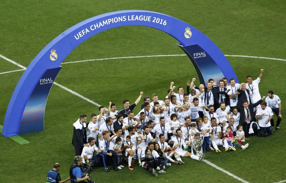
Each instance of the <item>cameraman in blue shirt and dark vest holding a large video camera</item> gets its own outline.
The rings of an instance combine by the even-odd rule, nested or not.
[[[85,179],[89,178],[88,174],[82,172],[82,157],[74,157],[74,164],[69,169],[69,175],[71,176],[71,182],[85,182]]]

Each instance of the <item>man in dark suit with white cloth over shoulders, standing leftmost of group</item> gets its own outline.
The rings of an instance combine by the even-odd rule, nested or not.
[[[87,116],[85,114],[80,115],[80,119],[78,119],[74,124],[74,135],[72,137],[72,145],[74,146],[74,150],[76,156],[80,156],[82,154],[82,149],[86,143],[86,119]]]

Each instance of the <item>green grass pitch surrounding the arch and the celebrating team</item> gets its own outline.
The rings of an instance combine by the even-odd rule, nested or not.
[[[112,11],[142,9],[171,15],[196,27],[226,55],[249,55],[286,59],[285,1],[8,1],[0,6],[0,54],[27,67],[31,60],[57,35],[90,17]],[[63,62],[143,55],[184,54],[178,41],[149,27],[127,26],[110,29],[91,37],[78,46]],[[286,115],[284,84],[285,61],[227,57],[240,82],[246,75],[256,78],[260,94],[272,89],[282,101],[282,118]],[[197,74],[187,56],[130,58],[63,64],[57,83],[108,106],[112,101],[120,109],[122,100],[135,101],[144,96],[167,95],[170,81],[185,88],[186,81]],[[0,73],[21,69],[0,58]],[[0,74],[0,125],[23,71]],[[198,85],[198,82],[195,83]],[[143,101],[143,100],[142,100]],[[142,103],[140,102],[140,104]],[[139,112],[140,106],[135,108]],[[29,144],[20,145],[0,136],[0,182],[45,182],[55,162],[61,164],[61,178],[68,177],[74,157],[71,144],[72,124],[80,114],[98,114],[98,107],[53,85],[45,111],[45,130],[21,135]],[[275,116],[276,119],[276,116]],[[285,180],[285,135],[274,131],[267,138],[251,137],[247,150],[215,154],[205,159],[250,182],[273,183]],[[182,166],[166,169],[167,174],[153,177],[138,163],[106,174],[103,168],[92,172],[96,182],[241,182],[204,163],[184,158]],[[125,165],[125,164],[124,164]]]

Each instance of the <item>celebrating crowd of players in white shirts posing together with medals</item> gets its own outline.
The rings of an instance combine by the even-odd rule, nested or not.
[[[255,123],[251,119],[249,110],[256,111],[255,118],[258,119],[259,131],[266,129],[272,133],[273,130],[281,130],[279,127],[282,118],[281,100],[273,94],[273,91],[269,91],[266,103],[257,108],[249,109],[246,105],[243,111],[244,104],[239,106],[239,94],[245,90],[248,90],[245,92],[248,103],[254,104],[264,100],[265,97],[261,98],[258,87],[262,74],[263,69],[256,80],[252,81],[252,77],[247,77],[247,83],[241,84],[235,83],[234,79],[230,79],[229,84],[227,79],[223,78],[217,85],[216,81],[210,79],[206,87],[202,84],[195,87],[196,79],[192,79],[192,82],[187,82],[190,94],[184,94],[182,87],[178,88],[178,93],[174,93],[176,87],[171,82],[168,96],[163,100],[158,100],[156,94],[153,94],[152,102],[149,97],[144,97],[142,110],[137,115],[134,115],[132,110],[140,102],[143,92],[140,92],[138,99],[131,105],[128,100],[124,100],[124,108],[119,111],[116,110],[115,104],[109,102],[107,112],[102,106],[99,108],[99,115],[91,116],[87,138],[94,137],[95,141],[98,139],[98,146],[89,143],[84,147],[82,156],[92,159],[94,150],[115,151],[116,156],[126,157],[130,170],[134,170],[132,158],[137,158],[140,166],[157,175],[156,168],[160,170],[159,173],[166,173],[165,166],[171,165],[168,162],[184,164],[180,157],[202,160],[204,157],[202,154],[192,154],[193,134],[209,137],[209,142],[204,147],[206,150],[220,153],[218,146],[224,146],[225,152],[235,150],[224,138],[228,134],[227,127],[230,126],[232,132],[236,132],[237,140],[245,142],[247,138],[244,131],[247,130],[247,134],[250,134],[252,129],[251,126],[250,129],[245,129],[244,126],[242,128],[239,124]],[[217,89],[217,93],[212,92],[214,88]],[[273,112],[278,119],[276,125],[273,121]],[[243,121],[240,120],[242,115],[245,116]],[[206,117],[203,116],[207,117],[205,122]],[[245,149],[248,144],[241,147]],[[112,153],[108,155],[114,156]],[[124,166],[120,161],[116,167],[118,170]]]

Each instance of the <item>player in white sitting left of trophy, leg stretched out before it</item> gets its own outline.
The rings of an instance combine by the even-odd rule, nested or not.
[[[180,129],[177,129],[176,130],[176,137],[172,138],[172,140],[174,141],[174,147],[175,147],[174,151],[182,157],[191,157],[194,160],[201,161],[203,159],[203,156],[196,156],[196,155],[194,155],[188,151],[184,151],[182,149],[182,147],[184,147],[185,149],[188,149],[188,147],[191,145],[191,142],[185,143],[181,137],[182,137],[182,131]],[[180,161],[182,161],[182,160],[180,159]]]

